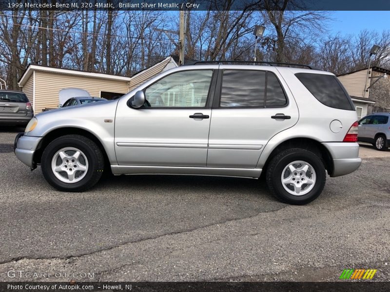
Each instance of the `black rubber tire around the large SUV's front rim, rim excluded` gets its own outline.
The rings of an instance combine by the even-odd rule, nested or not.
[[[59,180],[52,170],[52,159],[62,148],[74,147],[82,151],[88,159],[85,176],[76,183]],[[65,135],[53,140],[43,151],[41,168],[46,181],[60,191],[82,192],[98,183],[104,168],[104,157],[100,148],[92,140],[81,135]]]

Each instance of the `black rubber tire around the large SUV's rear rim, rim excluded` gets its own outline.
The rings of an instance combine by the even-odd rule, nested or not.
[[[312,166],[315,171],[316,180],[312,189],[304,195],[290,194],[284,187],[281,180],[284,168],[294,161],[303,161]],[[313,152],[291,148],[276,154],[268,164],[266,173],[267,185],[271,193],[280,201],[294,205],[303,205],[315,200],[322,192],[326,182],[325,166],[321,159]],[[307,187],[307,185],[306,185]]]

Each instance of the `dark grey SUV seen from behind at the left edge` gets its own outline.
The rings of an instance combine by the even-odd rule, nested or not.
[[[26,94],[0,90],[0,125],[25,126],[33,116],[33,108]]]

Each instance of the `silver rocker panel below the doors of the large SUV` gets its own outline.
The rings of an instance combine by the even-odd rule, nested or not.
[[[221,168],[221,167],[186,167],[186,166],[141,166],[111,165],[114,175],[120,174],[177,174],[177,175],[210,175],[258,179],[259,168]]]

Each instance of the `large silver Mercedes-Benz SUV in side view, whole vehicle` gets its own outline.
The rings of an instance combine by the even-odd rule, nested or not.
[[[281,201],[322,192],[326,171],[349,174],[357,115],[329,72],[199,64],[163,72],[117,100],[38,114],[16,156],[61,191],[84,191],[104,171],[258,179]]]

